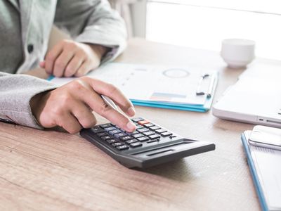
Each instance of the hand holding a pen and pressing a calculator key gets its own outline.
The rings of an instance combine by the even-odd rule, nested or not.
[[[82,127],[89,128],[96,124],[94,111],[127,132],[133,132],[136,125],[107,106],[100,94],[109,96],[127,115],[135,115],[133,105],[119,89],[89,77],[81,77],[53,91],[38,94],[32,98],[30,106],[42,127],[60,126],[75,134]]]

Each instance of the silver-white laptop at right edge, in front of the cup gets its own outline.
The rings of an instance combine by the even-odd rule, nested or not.
[[[225,120],[281,127],[281,65],[261,64],[246,70],[212,112]]]

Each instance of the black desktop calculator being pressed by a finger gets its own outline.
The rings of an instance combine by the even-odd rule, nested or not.
[[[106,123],[81,129],[80,135],[129,168],[152,167],[215,149],[214,143],[185,139],[142,117],[131,120],[135,132]]]

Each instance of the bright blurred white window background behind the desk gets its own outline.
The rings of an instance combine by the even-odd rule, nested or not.
[[[227,38],[256,41],[256,56],[281,60],[280,0],[110,0],[129,37],[220,51]]]

